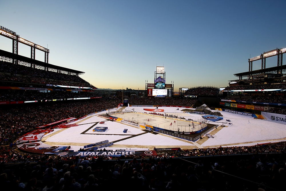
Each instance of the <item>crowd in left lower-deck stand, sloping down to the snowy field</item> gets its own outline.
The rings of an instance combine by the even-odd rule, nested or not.
[[[0,110],[0,142],[9,145],[19,135],[35,127],[74,116],[84,116],[118,106],[120,99],[93,99],[23,106]]]

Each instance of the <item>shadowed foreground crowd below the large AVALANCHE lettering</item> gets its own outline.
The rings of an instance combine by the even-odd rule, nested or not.
[[[177,153],[150,156],[118,157],[104,160],[102,156],[60,157],[26,155],[1,146],[1,159],[23,161],[6,170],[1,163],[0,181],[12,190],[106,190],[118,186],[136,190],[258,190],[262,185],[241,182],[242,179],[283,190],[285,174],[285,142],[248,147],[217,147],[191,149]],[[282,152],[262,155],[263,152]],[[188,156],[252,153],[237,157]],[[244,156],[244,157],[243,157]],[[184,158],[180,160],[179,158]],[[13,159],[13,160],[12,160]],[[133,159],[133,160],[132,160]],[[35,161],[29,163],[27,161]],[[11,168],[9,168],[11,169]],[[207,184],[206,184],[207,182]]]

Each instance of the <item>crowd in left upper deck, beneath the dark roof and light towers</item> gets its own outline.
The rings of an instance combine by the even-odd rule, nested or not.
[[[0,60],[0,81],[23,82],[32,84],[54,84],[64,86],[92,87],[76,75],[68,75]]]

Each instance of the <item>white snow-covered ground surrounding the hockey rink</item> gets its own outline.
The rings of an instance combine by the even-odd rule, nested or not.
[[[126,110],[144,113],[146,112],[143,110],[144,108],[156,109],[155,107],[126,107]],[[158,109],[164,109],[163,113],[167,113],[168,115],[177,115],[185,117],[186,119],[190,118],[196,120],[198,118],[201,118],[200,115],[183,113],[181,110],[184,108],[179,108],[179,110],[177,110],[177,107],[158,107]],[[286,126],[281,123],[275,123],[273,121],[267,121],[262,119],[254,119],[253,117],[227,113],[223,111],[221,111],[221,113],[223,115],[223,120],[218,122],[233,123],[233,124],[223,127],[220,131],[218,131],[214,135],[215,138],[207,139],[204,143],[202,143],[201,144],[202,147],[212,147],[216,145],[223,146],[227,144],[228,146],[230,145],[238,146],[239,143],[242,143],[239,144],[239,146],[243,145],[248,146],[248,145],[255,145],[257,143],[277,142],[273,141],[273,139],[284,139],[286,137]],[[141,128],[124,125],[116,121],[106,121],[106,119],[98,117],[97,116],[98,114],[99,113],[97,113],[96,115],[92,115],[92,117],[89,116],[90,117],[89,119],[84,118],[81,121],[74,122],[77,123],[79,126],[67,128],[61,131],[60,133],[55,133],[55,135],[51,134],[51,137],[48,137],[45,141],[53,142],[54,143],[53,145],[55,145],[56,143],[59,143],[56,145],[62,145],[61,143],[69,143],[69,145],[71,145],[72,147],[71,149],[74,150],[83,147],[83,146],[77,146],[77,144],[75,143],[82,143],[81,145],[88,145],[91,143],[96,143],[104,140],[109,140],[109,142],[118,141],[114,143],[112,149],[120,149],[124,148],[124,146],[128,147],[128,145],[133,149],[147,148],[147,147],[151,148],[154,146],[160,146],[160,147],[195,146],[194,143],[191,141],[178,140],[178,138],[174,138],[167,135],[161,135],[161,134],[155,135],[152,133],[144,133],[145,132],[143,131],[144,129]],[[231,120],[231,122],[226,121],[226,119]],[[98,123],[100,121],[105,121],[105,123],[104,124]],[[218,125],[222,124],[217,122],[210,122],[210,123]],[[94,126],[92,127],[92,125]],[[94,129],[95,127],[108,127],[108,130],[106,132],[94,132],[92,131],[92,129]],[[127,133],[123,133],[124,129],[128,129]],[[83,133],[84,131],[86,132]],[[144,134],[138,135],[141,133]],[[212,132],[210,132],[210,134],[213,135]],[[132,137],[134,135],[138,136]],[[127,137],[130,138],[120,141],[121,139]],[[259,142],[251,143],[253,141],[259,141]],[[74,144],[74,146],[72,144]],[[118,145],[118,147],[116,147],[116,145]],[[134,148],[133,145],[136,145],[137,147]]]

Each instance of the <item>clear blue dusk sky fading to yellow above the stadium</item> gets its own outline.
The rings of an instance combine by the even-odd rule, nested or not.
[[[286,1],[1,1],[0,25],[50,50],[98,88],[145,89],[164,66],[174,89],[225,87],[248,58],[286,48]],[[12,40],[0,36],[0,49]],[[19,54],[30,48],[19,44]],[[44,54],[36,51],[36,59]],[[284,59],[285,60],[285,59]],[[284,61],[286,62],[286,61]],[[286,63],[284,63],[286,64]],[[283,64],[283,65],[284,65]],[[277,57],[266,59],[266,67]],[[261,61],[253,62],[253,70]]]

